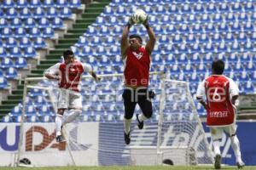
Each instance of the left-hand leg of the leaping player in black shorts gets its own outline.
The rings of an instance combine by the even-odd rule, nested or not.
[[[125,117],[124,117],[124,127],[125,127],[125,144],[130,144],[131,138],[130,138],[130,126],[131,126],[131,120],[132,116],[135,110],[136,102],[133,101],[134,97],[134,90],[130,88],[125,88],[123,93],[123,99],[124,99],[124,106],[125,106]]]

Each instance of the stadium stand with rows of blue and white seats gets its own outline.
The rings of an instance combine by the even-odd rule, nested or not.
[[[36,51],[47,47],[46,40],[55,37],[55,30],[63,26],[65,19],[72,17],[73,9],[81,6],[80,1],[33,1],[34,3],[22,4],[19,2],[21,1],[3,0],[3,4],[0,5],[0,14],[3,14],[0,20],[0,37],[3,39],[0,43],[0,57],[7,56],[9,59],[2,60],[2,69],[5,64],[6,67],[14,65],[14,62],[18,64],[11,67],[11,71],[3,71],[3,79],[0,77],[3,88],[8,86],[6,81],[9,81],[5,77],[9,74],[9,77],[15,78],[17,70],[19,74],[20,68],[26,68],[26,59],[37,57]],[[208,3],[204,0],[150,0],[144,5],[145,2],[98,0],[90,3],[84,9],[84,13],[80,14],[81,18],[73,24],[73,29],[68,29],[67,33],[58,39],[55,49],[49,50],[49,54],[40,60],[40,64],[32,69],[28,77],[42,77],[44,69],[58,62],[66,48],[72,48],[82,61],[102,68],[98,73],[121,73],[123,65],[119,58],[119,37],[122,26],[133,8],[143,8],[150,15],[149,22],[154,26],[158,38],[152,54],[152,70],[165,70],[167,77],[189,81],[190,90],[195,94],[197,83],[210,74],[212,59],[224,59],[227,64],[225,75],[233,75],[241,94],[255,93],[254,1],[236,0],[219,3],[218,0],[212,0]],[[138,32],[145,30],[142,26],[132,27],[131,33]],[[163,66],[158,68],[156,65]],[[83,86],[86,85],[86,82],[82,83]],[[8,97],[9,100],[2,101],[1,113],[15,115],[12,114],[12,109],[20,103],[22,88],[21,81],[17,90],[13,90],[12,95]],[[109,90],[102,89],[102,93],[108,94]],[[33,100],[32,105],[39,105],[38,101]],[[32,112],[48,112],[52,109],[52,106],[48,105],[44,111],[38,109]],[[202,107],[197,103],[195,105],[201,116],[204,116],[206,113]],[[95,113],[91,106],[84,106],[84,112]],[[240,107],[240,110],[247,110],[246,108]],[[254,103],[250,109],[256,109]],[[97,111],[93,116],[88,113],[84,120],[104,120],[106,116],[97,115],[102,109],[98,108]],[[50,114],[46,117],[44,114],[39,115],[28,120],[53,120]],[[108,119],[115,120],[110,117]],[[4,121],[12,122],[8,117],[4,117]]]

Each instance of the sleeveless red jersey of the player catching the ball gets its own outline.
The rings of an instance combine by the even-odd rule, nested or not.
[[[150,56],[144,47],[137,52],[128,48],[124,59],[125,85],[135,87],[148,87]]]

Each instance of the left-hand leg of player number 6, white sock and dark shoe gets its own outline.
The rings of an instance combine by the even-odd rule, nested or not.
[[[211,136],[212,136],[213,150],[214,150],[214,154],[215,154],[214,167],[216,169],[220,169],[221,168],[220,140],[222,139],[223,128],[222,127],[210,127],[210,131],[211,131]]]

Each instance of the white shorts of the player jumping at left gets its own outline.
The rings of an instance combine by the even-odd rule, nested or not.
[[[82,96],[79,92],[60,88],[58,109],[82,108]]]

